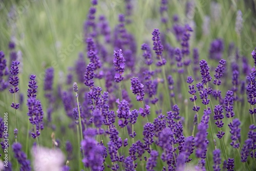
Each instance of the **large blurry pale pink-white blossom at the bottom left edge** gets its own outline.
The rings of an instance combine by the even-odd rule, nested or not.
[[[46,147],[33,147],[34,158],[33,167],[35,171],[61,171],[65,163],[65,156],[60,149],[50,149]]]

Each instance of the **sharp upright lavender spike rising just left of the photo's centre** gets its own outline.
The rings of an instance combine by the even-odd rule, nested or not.
[[[125,66],[125,63],[124,63],[125,59],[123,57],[123,54],[122,54],[122,50],[118,50],[118,51],[114,51],[114,66],[115,66],[115,71],[116,71],[116,74],[115,74],[115,82],[120,82],[123,80],[123,72],[124,72],[124,66]]]

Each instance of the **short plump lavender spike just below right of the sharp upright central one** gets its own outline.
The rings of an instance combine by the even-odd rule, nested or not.
[[[131,78],[131,90],[133,90],[133,94],[137,95],[137,101],[143,101],[144,99],[144,85],[140,82],[139,78],[133,77]]]

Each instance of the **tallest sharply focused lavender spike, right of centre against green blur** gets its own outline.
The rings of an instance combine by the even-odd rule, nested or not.
[[[163,53],[163,45],[162,42],[160,40],[160,32],[159,29],[154,29],[154,31],[152,32],[152,40],[153,40],[153,50],[155,51],[156,55],[157,55],[157,59],[159,61],[157,61],[156,65],[158,67],[164,66],[166,64],[166,60],[162,57],[162,53]]]

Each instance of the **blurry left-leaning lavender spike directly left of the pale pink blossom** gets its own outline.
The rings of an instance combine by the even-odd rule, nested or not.
[[[14,157],[20,164],[20,170],[31,170],[30,161],[27,160],[27,155],[22,151],[22,145],[20,143],[14,143],[12,145]]]

